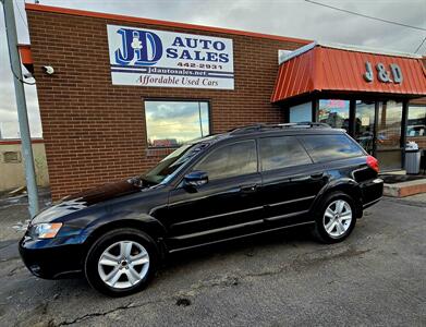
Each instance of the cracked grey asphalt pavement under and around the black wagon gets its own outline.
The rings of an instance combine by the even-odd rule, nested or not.
[[[1,326],[426,326],[424,203],[384,199],[340,244],[297,229],[181,254],[122,299],[33,277],[15,243],[0,242]]]

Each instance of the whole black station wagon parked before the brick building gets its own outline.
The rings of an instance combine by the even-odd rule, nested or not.
[[[141,177],[69,196],[20,242],[41,278],[84,272],[100,292],[143,289],[167,254],[306,225],[344,240],[382,195],[378,162],[319,123],[252,125],[185,144]]]

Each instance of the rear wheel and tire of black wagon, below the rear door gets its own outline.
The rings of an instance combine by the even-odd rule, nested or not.
[[[319,206],[313,229],[314,237],[322,243],[339,243],[346,239],[356,223],[353,198],[343,192],[333,192]]]

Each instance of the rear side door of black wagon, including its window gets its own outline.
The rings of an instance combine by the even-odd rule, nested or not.
[[[322,165],[313,162],[296,136],[259,138],[259,161],[268,227],[313,220],[308,210],[326,184]]]

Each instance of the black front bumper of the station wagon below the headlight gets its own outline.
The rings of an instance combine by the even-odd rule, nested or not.
[[[19,244],[21,257],[29,271],[40,278],[58,279],[83,271],[83,244],[63,239],[34,240],[25,235]]]

